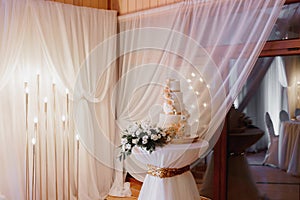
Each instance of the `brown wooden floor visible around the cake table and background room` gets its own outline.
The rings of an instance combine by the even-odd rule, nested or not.
[[[263,166],[264,152],[246,155],[254,181],[265,200],[300,200],[300,177],[294,177],[278,168]],[[201,188],[205,163],[193,169],[198,188]],[[107,200],[134,200],[138,198],[142,183],[130,179],[132,197],[107,197]],[[230,199],[229,199],[230,200]]]

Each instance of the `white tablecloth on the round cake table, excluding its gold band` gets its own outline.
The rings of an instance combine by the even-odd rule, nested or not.
[[[208,148],[208,142],[199,140],[192,144],[168,144],[151,154],[134,148],[133,155],[145,164],[160,168],[182,168],[197,160]],[[139,200],[200,199],[196,182],[190,171],[169,178],[147,174],[139,194]]]

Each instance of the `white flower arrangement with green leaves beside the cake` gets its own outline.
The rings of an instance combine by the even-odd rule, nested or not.
[[[152,153],[157,146],[162,147],[172,140],[172,135],[168,131],[152,126],[149,121],[134,122],[121,134],[120,160],[125,160],[135,146]]]

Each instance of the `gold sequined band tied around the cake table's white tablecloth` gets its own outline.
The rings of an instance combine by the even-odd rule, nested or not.
[[[169,177],[177,176],[190,170],[190,165],[181,168],[160,168],[150,164],[148,164],[147,166],[148,166],[147,173],[152,176],[157,176],[159,178],[169,178]]]

